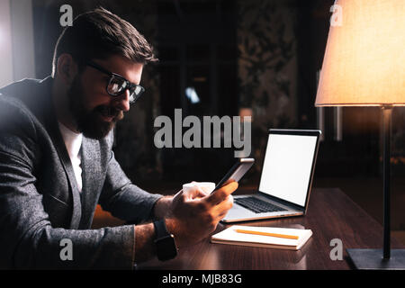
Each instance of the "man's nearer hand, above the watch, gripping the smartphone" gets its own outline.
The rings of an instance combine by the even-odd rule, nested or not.
[[[230,182],[208,195],[201,190],[176,193],[166,226],[175,235],[177,246],[192,245],[211,234],[232,207],[231,193],[236,189],[238,183]]]

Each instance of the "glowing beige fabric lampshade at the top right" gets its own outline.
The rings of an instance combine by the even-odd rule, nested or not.
[[[405,0],[335,5],[315,105],[405,105]]]

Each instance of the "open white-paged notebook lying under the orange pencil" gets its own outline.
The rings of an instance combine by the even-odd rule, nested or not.
[[[283,235],[298,236],[298,239],[278,238],[263,235],[254,235],[238,233],[237,229],[259,231],[266,233],[275,233]],[[275,227],[253,227],[234,225],[220,233],[211,236],[211,243],[250,246],[250,247],[269,247],[277,249],[300,250],[302,246],[312,236],[311,229],[291,229]]]

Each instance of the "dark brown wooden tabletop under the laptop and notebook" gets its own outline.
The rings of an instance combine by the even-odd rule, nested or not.
[[[383,247],[382,225],[338,188],[314,189],[305,216],[250,221],[243,222],[241,225],[303,227],[312,229],[313,235],[299,251],[212,244],[210,238],[206,238],[193,247],[184,248],[173,260],[159,262],[154,259],[138,268],[174,270],[351,269],[353,266],[347,257],[347,248]],[[227,227],[229,225],[219,224],[216,232]],[[330,246],[330,241],[334,238],[342,241],[342,260],[332,260],[330,257],[330,252],[335,247]],[[392,247],[403,246],[392,238]]]

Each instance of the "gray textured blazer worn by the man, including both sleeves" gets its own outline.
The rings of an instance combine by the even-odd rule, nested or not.
[[[151,220],[161,195],[131,184],[114,158],[112,132],[83,138],[78,192],[53,112],[52,81],[23,80],[0,90],[0,268],[131,269],[134,226],[90,229],[95,206],[140,223]],[[60,257],[65,238],[72,260]]]

